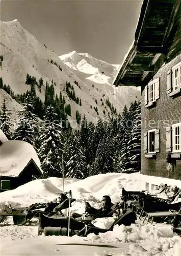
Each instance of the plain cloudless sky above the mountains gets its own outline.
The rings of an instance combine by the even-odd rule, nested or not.
[[[18,19],[57,55],[75,50],[120,64],[141,5],[142,0],[1,0],[1,20]]]

